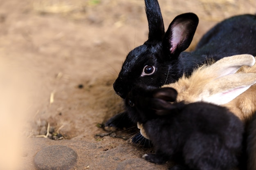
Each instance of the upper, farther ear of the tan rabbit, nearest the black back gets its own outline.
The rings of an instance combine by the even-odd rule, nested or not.
[[[212,74],[217,77],[233,74],[238,71],[241,66],[253,66],[255,64],[255,58],[249,54],[233,55],[230,57],[224,57],[211,66],[207,67],[207,72],[212,71]]]

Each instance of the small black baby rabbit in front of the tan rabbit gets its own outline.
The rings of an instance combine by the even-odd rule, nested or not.
[[[231,170],[242,153],[243,123],[222,106],[175,102],[174,88],[134,87],[126,105],[133,121],[143,125],[155,153],[153,163],[175,161],[170,170]]]

